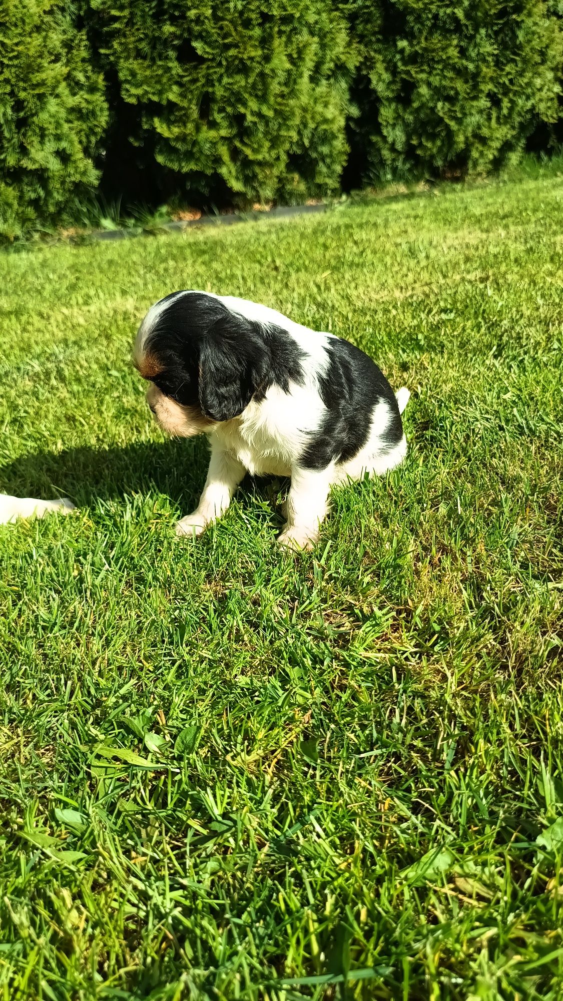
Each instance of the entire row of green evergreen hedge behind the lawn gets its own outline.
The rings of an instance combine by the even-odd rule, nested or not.
[[[562,4],[0,0],[0,235],[100,171],[208,205],[500,167],[561,135]]]

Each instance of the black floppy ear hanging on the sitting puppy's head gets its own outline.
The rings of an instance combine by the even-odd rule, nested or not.
[[[215,323],[199,346],[199,405],[211,420],[231,420],[242,413],[254,392],[254,365],[248,331],[229,321]],[[245,325],[242,324],[240,325]]]

